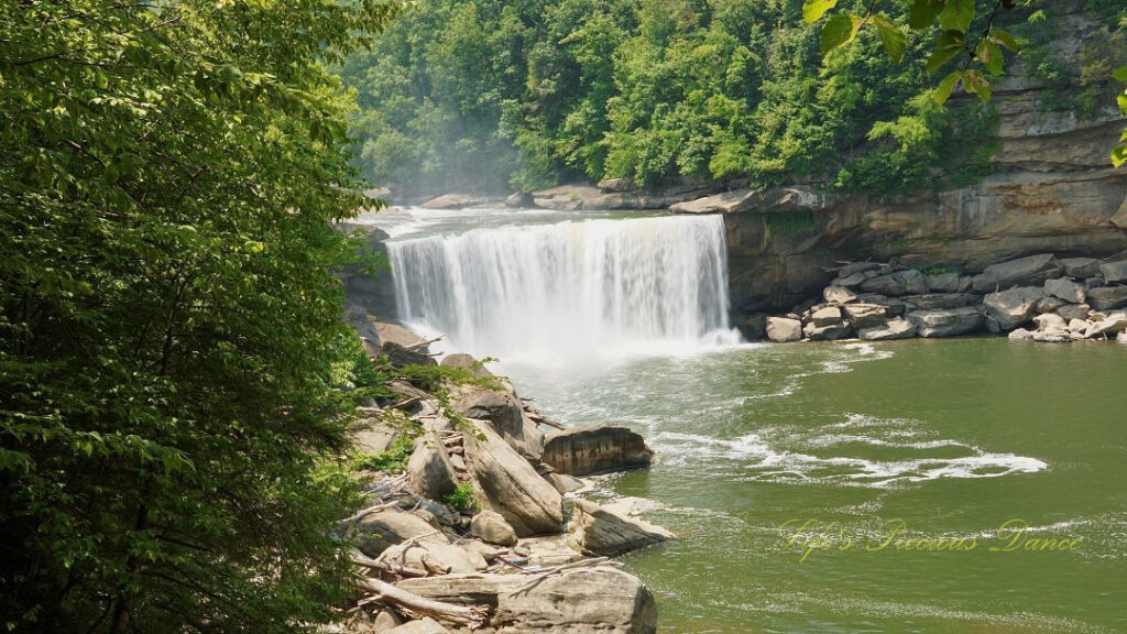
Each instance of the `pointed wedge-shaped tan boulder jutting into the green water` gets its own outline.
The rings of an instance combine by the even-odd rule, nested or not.
[[[675,537],[659,526],[622,516],[587,500],[575,500],[568,545],[585,555],[613,557]]]

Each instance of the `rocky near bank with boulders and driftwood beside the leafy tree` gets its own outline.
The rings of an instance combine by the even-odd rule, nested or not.
[[[349,317],[373,362],[418,378],[362,410],[371,505],[340,535],[366,581],[338,631],[656,632],[653,595],[609,557],[673,534],[579,496],[579,476],[649,465],[645,440],[566,428],[471,356],[438,366],[415,334]]]

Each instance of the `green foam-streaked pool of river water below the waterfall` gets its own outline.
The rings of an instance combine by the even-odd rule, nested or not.
[[[682,536],[625,560],[662,632],[1095,634],[1127,632],[1125,368],[1113,343],[968,338],[502,370],[657,451],[594,496]],[[896,521],[974,547],[880,548]]]

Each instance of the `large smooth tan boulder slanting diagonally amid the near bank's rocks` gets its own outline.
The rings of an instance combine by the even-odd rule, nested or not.
[[[464,433],[467,469],[487,507],[500,513],[521,537],[558,532],[564,499],[536,469],[482,421]]]

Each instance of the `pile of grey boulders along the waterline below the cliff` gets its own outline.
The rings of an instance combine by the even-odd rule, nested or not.
[[[790,314],[757,316],[747,331],[773,342],[862,341],[1010,333],[1040,342],[1127,340],[1127,259],[1032,255],[976,275],[925,274],[887,263],[846,263]]]

